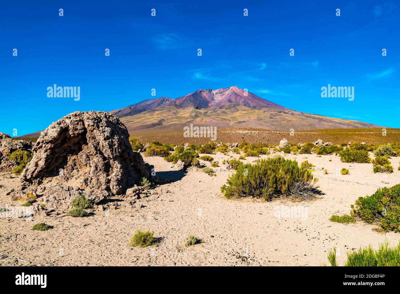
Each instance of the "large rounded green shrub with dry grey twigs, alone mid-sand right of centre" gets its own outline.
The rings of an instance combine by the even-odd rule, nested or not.
[[[294,187],[294,184],[301,182],[310,184],[312,179],[311,171],[299,167],[297,161],[274,157],[258,160],[254,165],[250,163],[241,165],[221,187],[221,191],[228,199],[263,197],[270,201],[276,195],[296,197],[296,193],[292,193],[294,189],[300,192],[304,189],[311,191],[308,185]]]

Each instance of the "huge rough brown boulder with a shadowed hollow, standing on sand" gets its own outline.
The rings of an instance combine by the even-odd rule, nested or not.
[[[70,113],[41,133],[21,182],[123,194],[140,185],[142,177],[150,179],[153,168],[132,150],[128,138],[125,125],[110,113]]]

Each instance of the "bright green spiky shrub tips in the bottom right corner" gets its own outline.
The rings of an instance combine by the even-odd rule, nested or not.
[[[336,263],[336,248],[328,253],[328,260],[332,266]],[[384,244],[379,244],[379,249],[374,250],[371,245],[368,248],[359,248],[352,252],[347,252],[347,260],[344,266],[400,266],[400,242],[395,247],[389,247],[385,240]]]

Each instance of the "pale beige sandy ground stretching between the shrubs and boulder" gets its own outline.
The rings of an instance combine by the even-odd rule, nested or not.
[[[156,167],[158,177],[174,182],[156,187],[153,195],[137,200],[143,208],[136,208],[136,204],[132,207],[129,199],[115,198],[110,199],[110,210],[94,211],[90,217],[59,215],[30,221],[0,218],[0,265],[319,266],[327,262],[327,252],[334,246],[342,265],[346,252],[360,246],[378,248],[385,238],[392,245],[398,244],[400,234],[382,234],[373,230],[376,226],[361,221],[329,221],[332,214],[349,214],[350,205],[358,197],[400,183],[398,158],[390,159],[394,173],[374,174],[371,163],[342,163],[334,155],[285,156],[299,163],[308,157],[316,166],[313,173],[325,195],[310,202],[227,200],[220,187],[234,171],[216,167],[216,177],[210,177],[196,168],[172,171],[171,163],[161,157],[144,157]],[[220,163],[229,158],[219,153],[213,157]],[[246,161],[254,159],[248,157]],[[328,169],[327,175],[321,167]],[[342,167],[350,174],[341,175]],[[0,206],[18,205],[6,196],[18,183],[14,175],[0,175],[0,185],[4,185],[0,188]],[[281,214],[282,205],[282,211],[296,207],[298,215]],[[54,228],[30,230],[38,222]],[[160,243],[147,248],[127,246],[138,229],[154,231]],[[185,247],[189,234],[203,242]]]

